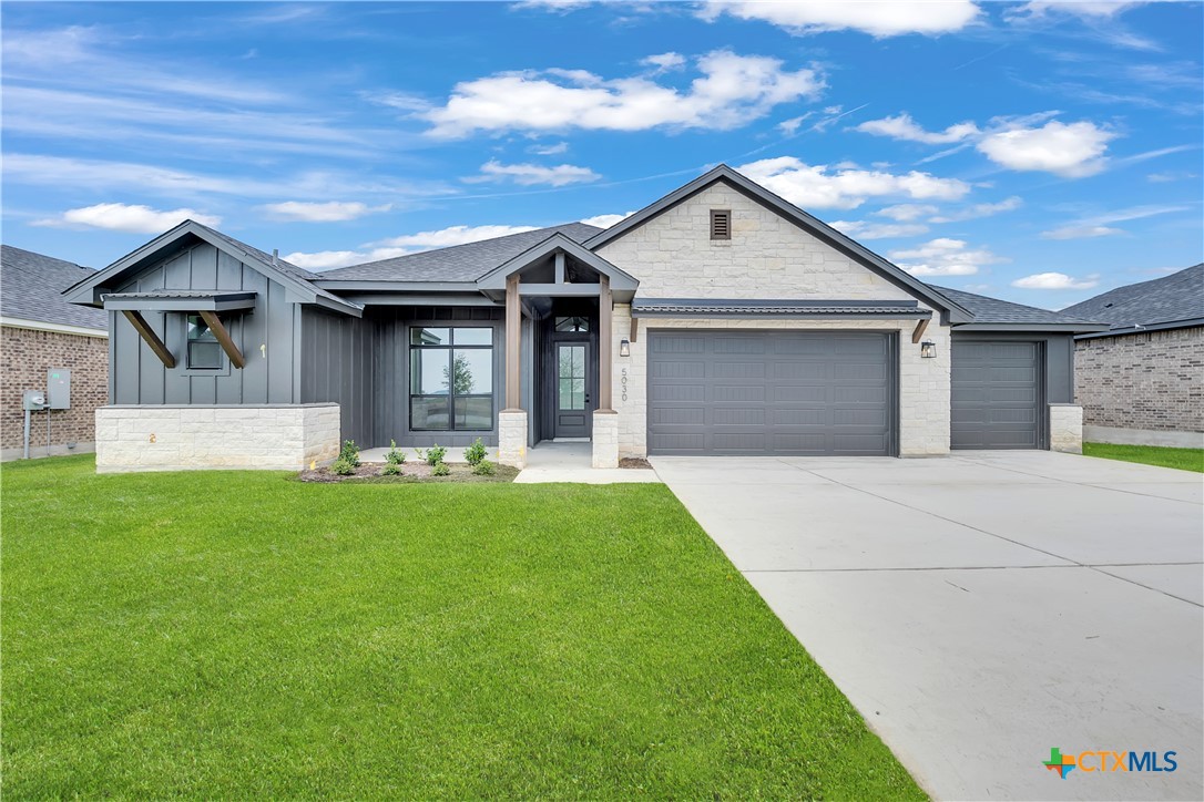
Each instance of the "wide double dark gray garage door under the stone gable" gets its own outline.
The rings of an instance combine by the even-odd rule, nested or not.
[[[654,455],[891,455],[895,339],[650,332]]]

